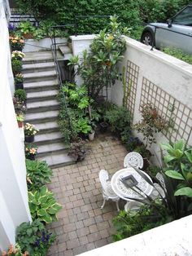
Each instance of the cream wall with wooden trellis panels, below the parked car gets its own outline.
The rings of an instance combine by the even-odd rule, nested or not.
[[[126,105],[133,115],[133,124],[141,120],[142,104],[150,103],[162,117],[172,118],[174,130],[169,130],[172,142],[185,139],[192,145],[192,65],[124,38],[127,50],[119,68],[125,68],[126,92],[129,94]],[[111,87],[111,101],[122,105],[123,97],[122,82],[117,81]],[[142,139],[141,134],[138,136]],[[151,147],[156,162],[161,161],[159,143],[166,142],[167,137],[157,135],[157,143]]]

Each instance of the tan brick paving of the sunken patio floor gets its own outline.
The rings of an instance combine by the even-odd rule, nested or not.
[[[53,170],[48,187],[63,209],[59,211],[59,220],[50,226],[57,234],[50,256],[72,256],[111,243],[116,203],[107,201],[104,209],[100,209],[103,196],[98,173],[106,169],[113,174],[123,168],[127,152],[111,135],[99,135],[89,145],[84,161]]]

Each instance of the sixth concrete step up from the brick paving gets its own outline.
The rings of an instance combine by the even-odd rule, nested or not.
[[[41,100],[27,103],[28,113],[37,113],[41,111],[59,109],[59,101],[57,99]]]

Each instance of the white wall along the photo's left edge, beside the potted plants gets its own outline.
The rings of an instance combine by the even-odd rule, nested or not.
[[[15,243],[15,228],[31,220],[24,143],[15,118],[7,20],[0,0],[0,250]]]

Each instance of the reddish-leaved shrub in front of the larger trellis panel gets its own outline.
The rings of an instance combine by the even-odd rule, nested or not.
[[[147,145],[151,146],[152,143],[156,142],[154,137],[156,133],[168,130],[168,121],[164,117],[159,116],[157,109],[151,104],[144,104],[141,113],[142,121],[137,122],[133,129],[142,133],[147,147]]]

